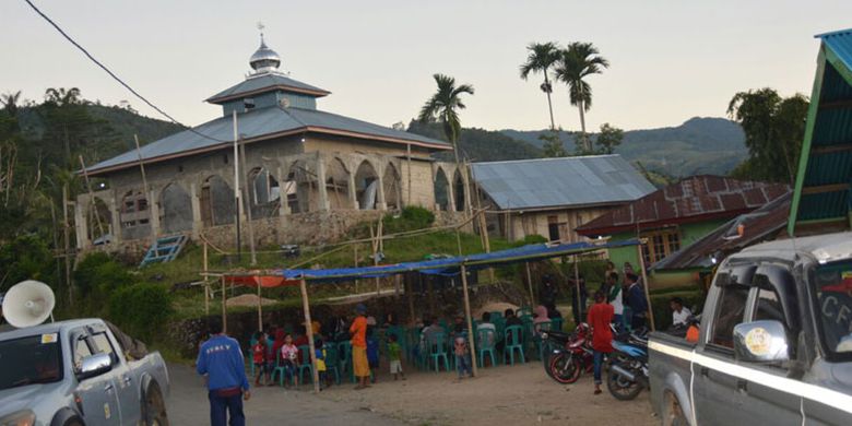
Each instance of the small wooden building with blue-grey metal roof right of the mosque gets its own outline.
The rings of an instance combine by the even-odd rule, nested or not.
[[[583,240],[573,229],[654,187],[620,155],[472,164],[487,227],[509,240]]]

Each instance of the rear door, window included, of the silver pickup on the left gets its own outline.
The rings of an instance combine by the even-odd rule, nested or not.
[[[132,371],[130,371],[125,360],[125,355],[116,343],[109,339],[106,328],[93,330],[91,339],[98,353],[109,354],[113,358],[113,371],[110,374],[116,383],[121,424],[135,424],[142,416],[141,398],[139,394],[140,386],[135,382]]]

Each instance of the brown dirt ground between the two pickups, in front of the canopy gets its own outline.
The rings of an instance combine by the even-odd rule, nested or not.
[[[481,369],[474,379],[454,372],[409,371],[393,381],[382,365],[378,383],[355,391],[344,382],[319,395],[311,387],[256,389],[245,405],[249,425],[654,425],[648,392],[616,401],[606,390],[592,394],[591,375],[573,386],[551,380],[536,362]],[[206,392],[191,367],[170,365],[169,417],[175,425],[208,421]]]

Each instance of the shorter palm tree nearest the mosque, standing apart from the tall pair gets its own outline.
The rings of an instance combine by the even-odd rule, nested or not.
[[[443,134],[452,144],[453,154],[455,154],[455,164],[459,163],[459,134],[461,133],[461,122],[459,121],[458,109],[464,109],[461,95],[464,93],[473,95],[473,86],[470,84],[460,84],[455,86],[455,79],[449,75],[435,74],[435,82],[438,83],[436,92],[429,100],[421,108],[418,120],[421,122],[439,121],[443,127]]]

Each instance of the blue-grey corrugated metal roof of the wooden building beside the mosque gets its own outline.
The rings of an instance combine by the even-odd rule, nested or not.
[[[622,203],[654,190],[620,155],[474,163],[473,176],[501,210]]]

